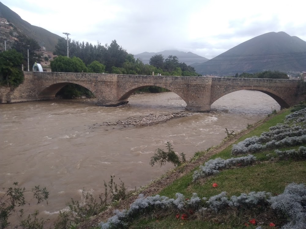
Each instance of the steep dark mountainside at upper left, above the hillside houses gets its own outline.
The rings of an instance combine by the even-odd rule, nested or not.
[[[34,6],[35,7],[35,6]],[[44,46],[47,51],[54,51],[55,45],[60,36],[47,31],[41,27],[31,25],[23,20],[17,13],[9,9],[6,5],[0,2],[0,17],[6,18],[10,23],[13,23],[17,29],[30,38],[35,39],[40,46]]]

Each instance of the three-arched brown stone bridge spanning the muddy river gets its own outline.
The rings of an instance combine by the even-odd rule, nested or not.
[[[0,88],[1,103],[54,99],[55,94],[68,83],[89,89],[97,97],[99,106],[125,103],[133,92],[145,86],[158,86],[176,93],[186,102],[187,110],[196,112],[208,112],[217,99],[244,89],[266,93],[282,108],[301,100],[298,80],[64,72],[24,72],[24,77],[24,82],[13,90]]]

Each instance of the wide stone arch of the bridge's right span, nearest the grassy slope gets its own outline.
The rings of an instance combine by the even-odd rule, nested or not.
[[[281,108],[290,107],[290,105],[285,101],[285,99],[283,99],[282,96],[280,94],[278,94],[277,92],[275,92],[271,89],[268,89],[268,88],[254,87],[254,86],[244,86],[244,87],[231,89],[231,90],[226,91],[224,93],[218,94],[215,97],[211,98],[210,105],[213,104],[216,100],[220,99],[221,97],[223,97],[223,96],[225,96],[229,93],[232,93],[232,92],[235,92],[235,91],[240,91],[240,90],[256,90],[256,91],[263,92],[263,93],[271,96],[281,106]]]

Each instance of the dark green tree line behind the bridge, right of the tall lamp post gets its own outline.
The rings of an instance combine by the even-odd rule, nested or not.
[[[67,55],[67,40],[64,38],[58,39],[58,44],[55,46],[54,55],[66,56]],[[166,60],[162,55],[152,56],[150,64],[144,64],[140,59],[134,58],[132,54],[129,54],[122,46],[118,45],[116,40],[113,40],[110,45],[101,45],[99,42],[97,45],[92,45],[88,42],[79,42],[75,40],[69,40],[69,56],[79,58],[83,61],[84,65],[88,67],[91,63],[96,61],[103,69],[103,71],[93,71],[86,69],[82,65],[83,72],[93,73],[112,73],[112,74],[127,74],[127,75],[151,75],[152,72],[161,75],[173,75],[173,76],[198,76],[194,67],[188,66],[185,63],[179,63],[176,56],[169,56]],[[80,63],[80,60],[75,59],[75,64]],[[55,59],[53,62],[61,62],[64,59]],[[68,60],[65,60],[68,61]],[[52,71],[65,71],[63,68],[55,67],[55,64],[51,65]],[[68,69],[66,71],[71,71]],[[76,69],[75,69],[76,71]]]

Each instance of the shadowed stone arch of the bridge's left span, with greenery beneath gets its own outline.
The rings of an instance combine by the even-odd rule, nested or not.
[[[69,83],[80,85],[95,95],[95,89],[91,88],[88,84],[85,84],[83,82],[75,82],[75,81],[56,81],[53,82],[52,84],[46,84],[43,86],[39,91],[38,91],[38,99],[39,100],[49,100],[49,99],[54,99],[56,93],[60,89],[62,89],[64,86],[68,85]]]

